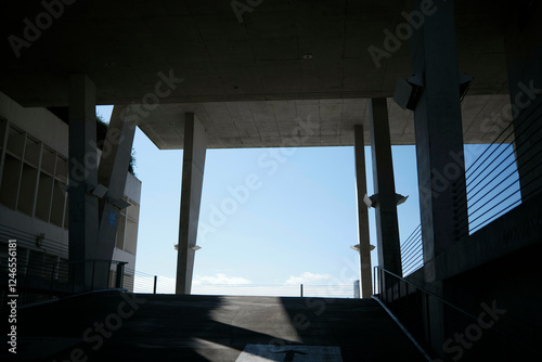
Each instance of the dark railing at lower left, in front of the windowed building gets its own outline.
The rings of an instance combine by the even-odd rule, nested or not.
[[[16,247],[10,248],[10,241]],[[125,264],[117,260],[69,260],[67,243],[0,225],[0,308],[5,308],[9,295],[17,295],[17,305],[26,305],[130,285],[125,283]]]

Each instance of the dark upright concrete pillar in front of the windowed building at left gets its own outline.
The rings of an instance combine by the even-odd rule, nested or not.
[[[86,75],[69,77],[69,260],[75,290],[92,284],[98,250],[95,87]],[[87,260],[86,262],[82,262]]]

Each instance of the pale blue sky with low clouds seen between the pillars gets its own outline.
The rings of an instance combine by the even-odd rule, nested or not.
[[[108,120],[112,106],[100,106],[98,112]],[[133,147],[136,172],[142,181],[136,269],[168,277],[171,284],[182,150],[160,151],[139,129]],[[481,152],[470,150],[470,159]],[[358,244],[353,147],[293,148],[276,168],[262,167],[258,159],[271,159],[271,152],[207,151],[199,222],[208,232],[198,233],[202,249],[196,251],[194,293],[206,284],[292,285],[297,290],[299,283],[347,284],[359,279],[359,257],[349,247]],[[392,156],[396,191],[410,195],[398,207],[404,241],[420,224],[415,147],[393,146]],[[372,195],[370,147],[365,158]],[[247,178],[257,185],[255,190],[245,189]],[[245,190],[241,202],[232,203],[231,190],[240,188]],[[376,245],[374,209],[370,209],[370,232],[371,244]],[[376,249],[372,264],[377,266]]]

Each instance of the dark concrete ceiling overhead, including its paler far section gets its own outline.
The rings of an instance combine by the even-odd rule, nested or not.
[[[230,0],[77,1],[20,57],[2,42],[0,90],[24,106],[66,106],[68,75],[86,73],[99,104],[141,103],[159,72],[172,73],[183,81],[141,125],[162,148],[182,147],[182,135],[166,132],[183,112],[202,119],[211,147],[276,146],[309,115],[320,131],[306,145],[351,145],[351,126],[369,119],[366,99],[390,98],[397,78],[410,76],[406,42],[379,68],[367,48],[383,48],[383,30],[404,22],[411,1],[251,3],[260,4],[240,22]],[[23,20],[46,11],[40,1],[13,7],[0,15],[4,39],[23,38]],[[480,116],[507,102],[511,9],[504,0],[456,1],[460,70],[475,77],[463,105],[465,132],[473,128],[466,142],[491,142],[479,134]],[[413,143],[412,115],[392,104],[389,112],[392,142]]]

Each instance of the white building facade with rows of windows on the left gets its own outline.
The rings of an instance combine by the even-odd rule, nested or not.
[[[100,159],[100,150],[96,159]],[[0,93],[0,263],[17,241],[18,273],[67,280],[68,125],[43,107],[24,108]],[[127,172],[113,260],[125,264],[122,286],[133,289],[141,181]],[[21,268],[23,266],[24,268]],[[111,263],[114,285],[116,263]],[[5,269],[7,266],[2,266]],[[21,275],[20,275],[21,276]]]

